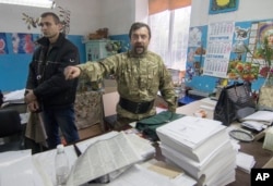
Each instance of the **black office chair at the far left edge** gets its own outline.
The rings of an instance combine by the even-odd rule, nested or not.
[[[23,149],[20,113],[13,109],[0,110],[0,152]]]

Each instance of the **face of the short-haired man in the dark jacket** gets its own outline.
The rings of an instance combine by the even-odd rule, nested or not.
[[[50,15],[41,17],[39,26],[43,35],[47,38],[55,38],[61,29],[61,25],[56,24],[54,17]]]

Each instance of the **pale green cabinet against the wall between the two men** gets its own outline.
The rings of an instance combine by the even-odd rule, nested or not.
[[[96,61],[112,54],[106,45],[112,40],[90,40],[85,42],[86,61]]]

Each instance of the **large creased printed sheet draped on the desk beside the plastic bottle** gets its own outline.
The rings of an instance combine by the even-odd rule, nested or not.
[[[69,175],[67,186],[87,183],[141,160],[124,133],[119,133],[108,139],[97,140],[78,158]]]

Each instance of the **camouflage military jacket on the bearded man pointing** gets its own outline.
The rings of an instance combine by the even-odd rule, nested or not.
[[[96,82],[106,75],[114,75],[120,97],[133,102],[152,101],[158,90],[168,103],[168,110],[176,111],[177,96],[174,90],[171,76],[159,55],[146,51],[142,55],[124,52],[108,57],[98,62],[86,62],[78,65],[81,78]],[[120,116],[141,120],[155,114],[155,108],[147,113],[134,114],[117,106]]]

